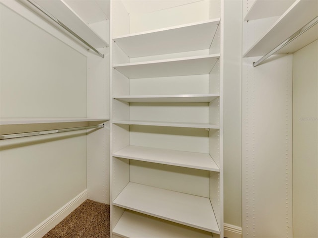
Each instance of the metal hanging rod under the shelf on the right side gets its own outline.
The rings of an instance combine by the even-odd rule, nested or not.
[[[256,62],[253,62],[253,66],[256,67],[258,64],[260,64],[261,62],[266,60],[268,57],[270,57],[271,55],[273,55],[274,53],[276,53],[277,51],[282,49],[284,46],[286,46],[287,44],[289,44],[290,42],[295,40],[297,37],[299,37],[300,35],[305,33],[307,30],[312,28],[317,23],[318,23],[318,16],[316,18],[314,18],[313,20],[311,20],[308,24],[303,26],[301,29],[299,29],[297,32],[295,32],[293,35],[291,35],[288,39],[286,39],[281,44],[279,44],[277,47],[275,47],[273,50],[271,50],[269,53],[267,53],[265,56],[263,56],[262,58],[260,58]]]

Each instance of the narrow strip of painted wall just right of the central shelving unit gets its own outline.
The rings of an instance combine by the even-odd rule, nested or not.
[[[224,2],[224,223],[241,227],[241,6]]]

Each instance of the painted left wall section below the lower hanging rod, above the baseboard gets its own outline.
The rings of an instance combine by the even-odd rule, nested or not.
[[[86,189],[85,134],[1,141],[0,237],[22,237]]]

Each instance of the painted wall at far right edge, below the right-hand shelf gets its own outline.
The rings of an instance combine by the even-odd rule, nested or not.
[[[318,237],[318,40],[293,60],[294,238]]]

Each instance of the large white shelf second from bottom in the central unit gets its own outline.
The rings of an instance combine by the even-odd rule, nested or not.
[[[220,234],[209,198],[129,182],[113,205]]]

